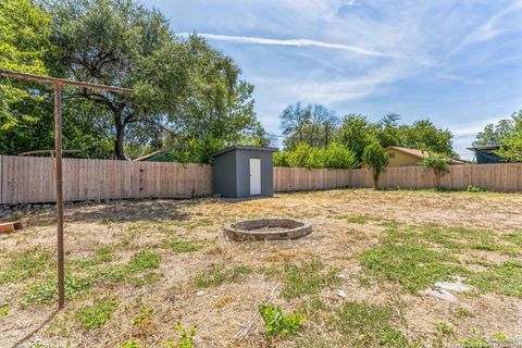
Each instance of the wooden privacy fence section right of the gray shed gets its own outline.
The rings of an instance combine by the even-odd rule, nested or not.
[[[465,189],[469,185],[492,191],[522,191],[522,163],[450,165],[440,185]],[[422,166],[388,167],[381,175],[383,188],[434,188],[435,175]],[[299,191],[339,187],[373,187],[372,172],[360,170],[308,170],[274,167],[274,191]]]

